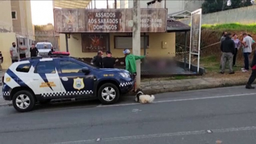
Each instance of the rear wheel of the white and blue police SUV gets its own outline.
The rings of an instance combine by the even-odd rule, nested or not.
[[[18,91],[12,98],[12,104],[18,112],[29,112],[35,106],[35,96],[30,91]]]

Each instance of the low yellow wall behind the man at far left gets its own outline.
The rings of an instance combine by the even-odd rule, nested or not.
[[[12,60],[10,58],[10,47],[13,42],[16,42],[16,34],[14,32],[0,33],[0,51],[4,58],[4,61],[1,64],[3,69],[8,69],[12,64]]]

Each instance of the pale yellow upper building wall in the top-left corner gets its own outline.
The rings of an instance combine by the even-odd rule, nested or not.
[[[12,6],[10,0],[0,1],[0,27],[8,31],[13,31],[12,26]]]

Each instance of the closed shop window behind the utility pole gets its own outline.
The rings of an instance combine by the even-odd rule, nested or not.
[[[146,35],[147,48],[149,48],[149,36]],[[115,36],[115,48],[132,48],[132,36]],[[140,47],[144,48],[144,37],[140,37]]]

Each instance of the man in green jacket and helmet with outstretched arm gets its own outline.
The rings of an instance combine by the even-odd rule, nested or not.
[[[134,91],[136,91],[136,60],[144,59],[146,56],[134,56],[129,49],[123,51],[125,55],[125,69],[134,76]]]

